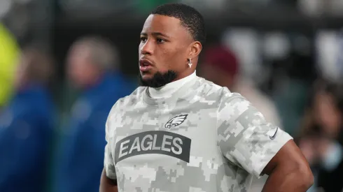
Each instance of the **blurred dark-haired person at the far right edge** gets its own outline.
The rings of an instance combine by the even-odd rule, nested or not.
[[[319,81],[304,117],[300,149],[316,182],[311,191],[341,192],[343,183],[343,85]]]

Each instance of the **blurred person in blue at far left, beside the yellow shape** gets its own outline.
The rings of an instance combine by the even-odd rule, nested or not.
[[[48,91],[51,57],[27,47],[15,77],[16,93],[0,115],[0,191],[45,191],[54,106]]]

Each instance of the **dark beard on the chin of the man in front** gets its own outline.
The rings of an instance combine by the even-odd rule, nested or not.
[[[169,82],[172,82],[177,77],[177,73],[175,71],[169,70],[166,73],[157,72],[153,77],[149,80],[143,80],[141,74],[139,74],[139,85],[144,87],[153,87],[158,88],[165,86]]]

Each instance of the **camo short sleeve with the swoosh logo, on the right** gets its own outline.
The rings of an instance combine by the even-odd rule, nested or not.
[[[258,178],[279,149],[293,139],[265,121],[246,98],[230,92],[223,94],[218,108],[217,133],[223,156]]]

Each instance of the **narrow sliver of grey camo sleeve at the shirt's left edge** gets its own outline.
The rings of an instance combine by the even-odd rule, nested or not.
[[[105,157],[104,157],[104,168],[106,170],[106,176],[110,179],[117,179],[116,167],[113,163],[111,144],[109,142],[109,131],[108,124],[106,122],[106,146],[105,146]]]

